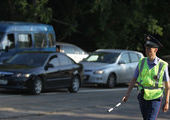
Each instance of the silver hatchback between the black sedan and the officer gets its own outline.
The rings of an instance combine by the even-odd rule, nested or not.
[[[130,50],[100,49],[92,52],[81,64],[84,83],[104,84],[112,88],[129,82],[143,54]]]

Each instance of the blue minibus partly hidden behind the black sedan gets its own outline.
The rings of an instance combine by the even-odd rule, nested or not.
[[[51,25],[28,22],[0,22],[0,63],[17,52],[55,50]]]

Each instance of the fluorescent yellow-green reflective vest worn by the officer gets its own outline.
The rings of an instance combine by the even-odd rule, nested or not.
[[[160,59],[157,65],[149,69],[146,57],[139,61],[137,83],[139,90],[144,90],[145,100],[157,99],[163,95],[163,75],[167,65]]]

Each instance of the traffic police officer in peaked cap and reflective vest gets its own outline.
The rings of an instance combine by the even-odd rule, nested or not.
[[[142,58],[136,68],[126,95],[122,101],[126,102],[135,83],[138,84],[138,101],[144,120],[155,120],[160,110],[163,90],[165,87],[165,104],[163,112],[169,109],[170,82],[168,63],[156,56],[162,44],[154,37],[147,35],[145,50],[147,57]],[[165,84],[163,84],[163,82]]]

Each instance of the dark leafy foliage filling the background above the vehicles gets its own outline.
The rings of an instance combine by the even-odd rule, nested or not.
[[[143,51],[144,34],[160,39],[164,54],[170,48],[168,0],[3,0],[0,6],[1,20],[52,24],[58,41],[87,51]]]

